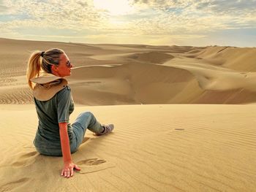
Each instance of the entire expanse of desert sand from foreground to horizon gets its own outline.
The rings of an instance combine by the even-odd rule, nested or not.
[[[33,145],[26,61],[52,47],[75,65],[70,123],[115,124],[86,131],[69,179]],[[255,191],[256,48],[0,39],[0,58],[0,191]]]

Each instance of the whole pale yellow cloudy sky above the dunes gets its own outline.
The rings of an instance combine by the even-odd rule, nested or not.
[[[0,37],[256,47],[256,0],[0,0]]]

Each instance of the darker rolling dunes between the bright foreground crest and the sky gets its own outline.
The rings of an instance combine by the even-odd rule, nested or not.
[[[60,47],[75,64],[75,102],[109,104],[246,104],[256,101],[256,48],[84,45],[0,39],[0,104],[31,104],[26,61]]]

